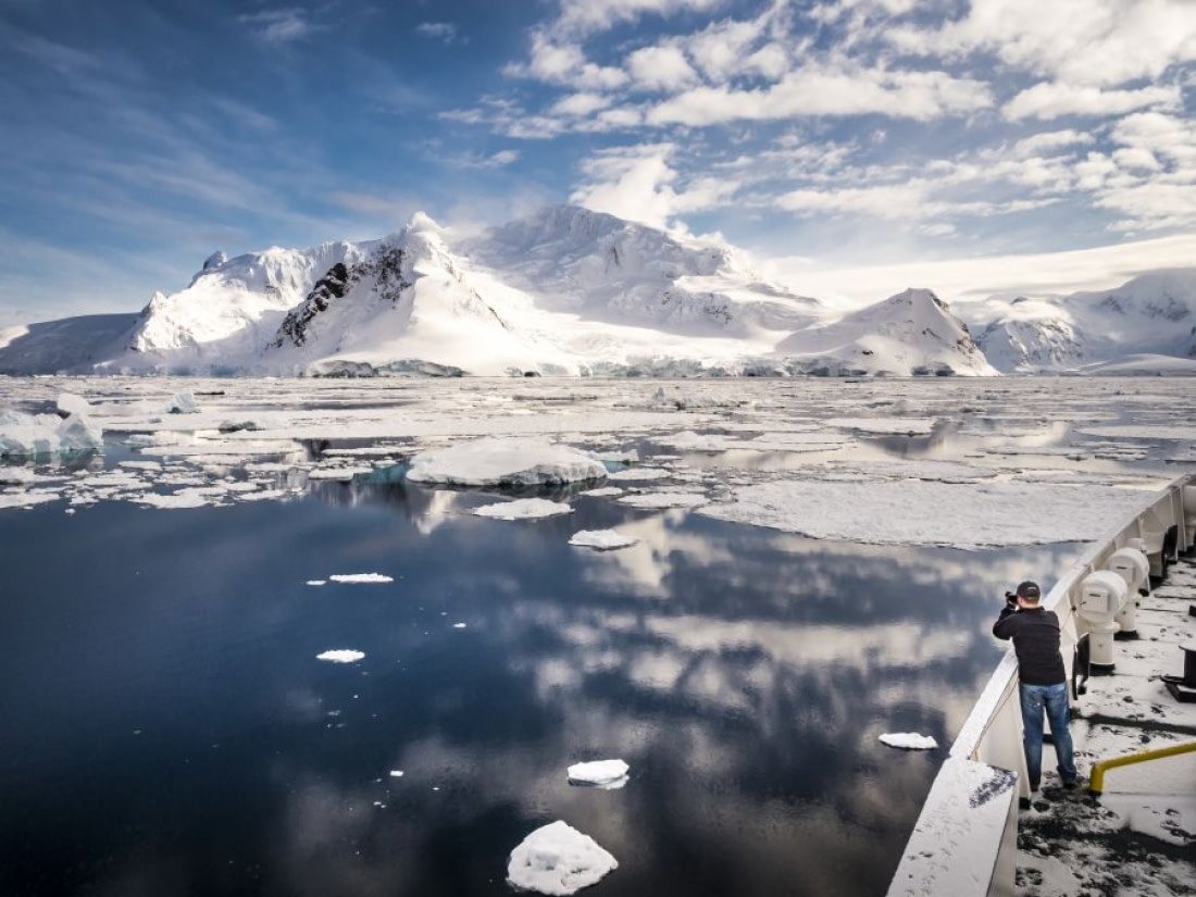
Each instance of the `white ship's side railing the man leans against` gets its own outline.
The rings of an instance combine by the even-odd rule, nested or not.
[[[1119,530],[1094,544],[1060,578],[1043,599],[1058,615],[1064,664],[1087,631],[1079,606],[1081,582],[1103,569],[1109,556],[1142,539],[1152,575],[1161,573],[1163,541],[1178,527],[1178,549],[1196,539],[1196,475],[1180,477],[1148,501]],[[905,844],[889,897],[1012,895],[1019,797],[1029,797],[1021,749],[1018,661],[1011,647],[951,745],[922,812]]]

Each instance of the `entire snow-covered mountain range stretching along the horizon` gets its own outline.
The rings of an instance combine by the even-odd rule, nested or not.
[[[1014,300],[974,313],[974,343],[929,291],[841,315],[716,239],[555,206],[454,240],[416,214],[379,240],[214,254],[140,315],[2,331],[0,373],[991,376],[1191,355],[1194,297],[1196,271],[1168,271]]]

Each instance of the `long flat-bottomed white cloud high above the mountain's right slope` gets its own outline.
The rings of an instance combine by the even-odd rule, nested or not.
[[[805,115],[879,114],[929,121],[991,105],[986,84],[944,72],[846,71],[810,66],[762,90],[697,87],[657,105],[653,124],[709,126]]]

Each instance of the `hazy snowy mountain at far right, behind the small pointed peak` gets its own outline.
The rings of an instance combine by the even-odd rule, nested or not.
[[[976,342],[1005,372],[1093,365],[1112,371],[1111,362],[1134,355],[1196,359],[1196,268],[1152,271],[1110,291],[1019,297],[1003,305],[980,311],[993,317]]]

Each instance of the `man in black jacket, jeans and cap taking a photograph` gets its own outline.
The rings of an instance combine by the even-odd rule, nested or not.
[[[1043,710],[1050,721],[1063,787],[1074,788],[1079,777],[1068,728],[1067,671],[1058,652],[1058,617],[1038,606],[1041,598],[1037,582],[1020,584],[1017,593],[1005,593],[1005,610],[993,624],[997,639],[1013,639],[1018,655],[1023,746],[1031,792],[1038,791],[1042,780]]]

